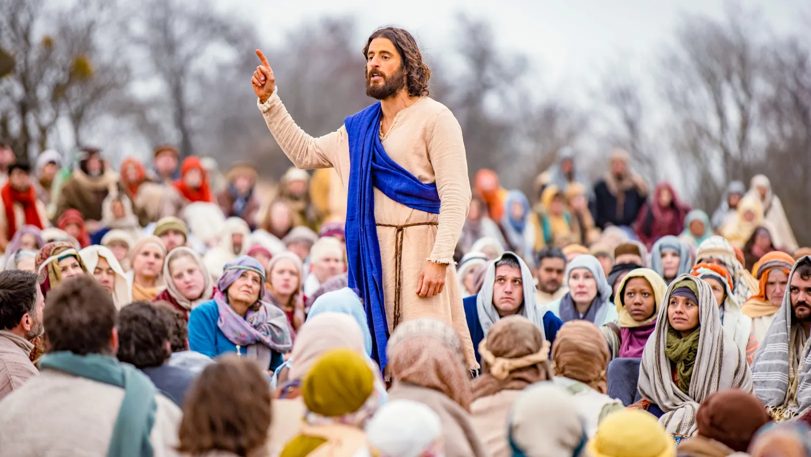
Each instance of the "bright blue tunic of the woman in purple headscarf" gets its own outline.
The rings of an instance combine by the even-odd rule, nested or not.
[[[220,319],[220,310],[217,302],[213,299],[200,303],[189,314],[189,349],[205,354],[210,358],[215,358],[223,353],[236,353],[237,345],[234,345],[225,333],[217,326]],[[247,353],[247,348],[239,348],[242,355]],[[276,370],[281,365],[281,353],[271,349],[270,366],[268,370]]]

